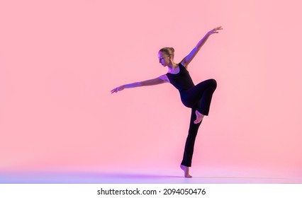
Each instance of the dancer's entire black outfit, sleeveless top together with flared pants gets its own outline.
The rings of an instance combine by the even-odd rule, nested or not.
[[[194,123],[196,120],[195,111],[198,110],[203,115],[208,115],[211,105],[211,99],[214,91],[216,90],[216,80],[208,79],[201,83],[194,85],[189,71],[179,63],[179,73],[170,74],[167,73],[170,83],[179,90],[181,102],[186,106],[191,108],[191,120],[189,127],[189,134],[186,138],[186,146],[184,148],[184,157],[181,161],[181,165],[187,167],[191,166],[194,143],[198,128],[201,124]],[[202,121],[202,120],[201,120]]]

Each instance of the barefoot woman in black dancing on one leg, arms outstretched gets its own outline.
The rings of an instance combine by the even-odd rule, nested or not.
[[[212,95],[217,86],[216,80],[214,79],[208,79],[195,86],[187,69],[197,52],[201,49],[206,40],[208,40],[208,37],[214,33],[218,33],[218,30],[223,30],[223,28],[220,26],[206,33],[206,35],[198,42],[196,47],[194,47],[194,49],[184,57],[179,64],[174,62],[173,47],[162,48],[160,52],[158,52],[158,59],[162,66],[168,67],[167,74],[147,81],[125,84],[111,90],[111,93],[116,93],[118,91],[122,91],[124,88],[155,86],[161,83],[172,83],[172,85],[179,90],[181,102],[186,107],[191,108],[189,134],[186,138],[184,156],[180,165],[180,168],[184,170],[184,177],[191,177],[189,174],[189,167],[191,167],[196,135],[201,121],[203,120],[203,116],[208,115]]]

